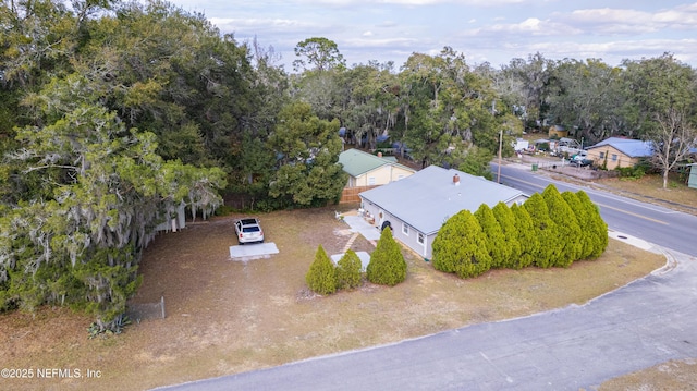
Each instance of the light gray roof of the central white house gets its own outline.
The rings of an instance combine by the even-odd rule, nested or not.
[[[460,176],[460,185],[453,176]],[[419,232],[431,234],[463,209],[476,211],[481,204],[490,207],[509,203],[523,192],[481,176],[454,169],[429,166],[401,181],[360,193],[365,200],[378,205]]]

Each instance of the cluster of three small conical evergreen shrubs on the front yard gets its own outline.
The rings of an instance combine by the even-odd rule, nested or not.
[[[319,245],[315,260],[305,274],[305,282],[307,288],[316,293],[332,294],[338,290],[359,286],[360,268],[360,259],[352,249],[348,249],[334,267],[325,248]],[[370,254],[366,277],[372,283],[390,286],[406,279],[406,261],[400,245],[392,237],[391,229],[382,230],[378,245]]]

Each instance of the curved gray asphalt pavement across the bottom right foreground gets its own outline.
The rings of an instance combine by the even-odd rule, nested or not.
[[[168,390],[578,390],[697,357],[697,259],[583,306]],[[384,325],[390,327],[390,325]]]

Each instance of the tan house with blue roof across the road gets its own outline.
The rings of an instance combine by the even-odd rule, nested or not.
[[[606,168],[608,170],[614,170],[617,167],[634,167],[641,159],[653,155],[650,142],[621,137],[603,139],[586,150],[588,151],[587,159],[594,160],[596,166],[602,166],[607,161]]]

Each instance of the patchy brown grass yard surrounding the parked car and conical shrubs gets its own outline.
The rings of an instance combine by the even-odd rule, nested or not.
[[[496,270],[461,280],[404,251],[404,283],[364,283],[322,297],[307,291],[304,277],[319,244],[331,255],[350,239],[333,209],[261,215],[267,241],[280,254],[247,262],[229,258],[228,247],[236,244],[233,218],[160,235],[148,248],[134,302],[164,296],[166,319],[134,321],[120,335],[88,340],[90,319],[64,308],[0,316],[3,367],[82,375],[2,379],[0,388],[138,390],[236,374],[582,304],[665,261],[611,241],[602,258],[568,269]],[[359,239],[352,248],[372,246]],[[85,378],[88,369],[100,377]]]

